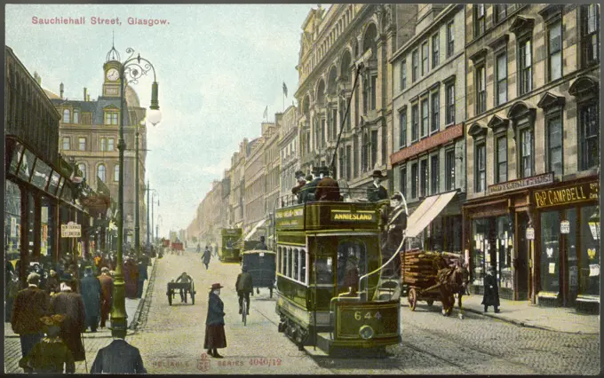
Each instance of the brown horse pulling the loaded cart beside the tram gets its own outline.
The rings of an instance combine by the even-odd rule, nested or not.
[[[439,290],[441,292],[442,316],[450,316],[455,306],[457,297],[457,307],[459,308],[459,319],[464,319],[462,311],[462,297],[466,293],[469,282],[470,272],[467,267],[459,261],[453,268],[441,268],[438,272],[438,279],[441,282]]]

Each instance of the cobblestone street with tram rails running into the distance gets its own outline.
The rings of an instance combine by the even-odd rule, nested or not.
[[[389,347],[387,358],[328,358],[298,348],[277,332],[275,300],[267,289],[251,297],[246,327],[238,314],[234,281],[239,264],[212,258],[205,270],[201,256],[167,255],[157,261],[155,281],[149,285],[139,327],[127,341],[139,348],[149,374],[598,374],[598,335],[576,335],[518,327],[480,314],[465,319],[444,318],[440,303],[401,308],[401,345]],[[166,285],[181,272],[195,280],[195,304],[170,306]],[[207,295],[212,283],[221,292],[227,313],[227,348],[223,359],[202,359]],[[404,302],[404,301],[403,301]],[[456,313],[454,313],[456,315]],[[107,334],[108,336],[108,334]],[[110,337],[86,338],[88,368]],[[19,338],[4,340],[7,373],[20,373]],[[78,363],[77,373],[85,366]]]

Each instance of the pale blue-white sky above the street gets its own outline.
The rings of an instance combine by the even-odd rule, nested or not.
[[[191,223],[242,139],[260,136],[265,107],[269,122],[282,112],[282,83],[285,107],[291,105],[301,26],[313,6],[7,4],[5,43],[42,77],[44,89],[59,94],[63,83],[69,99],[82,99],[84,87],[91,99],[101,94],[112,34],[122,59],[131,47],[153,64],[163,119],[147,130],[146,178],[159,192],[162,237]],[[85,17],[86,23],[40,25],[33,17]],[[92,25],[93,17],[118,18],[121,25]],[[165,24],[129,25],[128,18]],[[150,105],[152,80],[132,86],[140,106]]]

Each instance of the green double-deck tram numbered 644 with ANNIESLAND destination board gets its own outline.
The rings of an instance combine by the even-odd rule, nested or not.
[[[401,342],[400,277],[385,276],[380,250],[385,202],[276,210],[278,329],[300,350],[384,350]]]

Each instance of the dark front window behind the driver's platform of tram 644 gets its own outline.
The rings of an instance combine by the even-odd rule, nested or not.
[[[367,273],[367,248],[360,240],[345,240],[338,244],[338,293],[359,287],[359,278]]]

